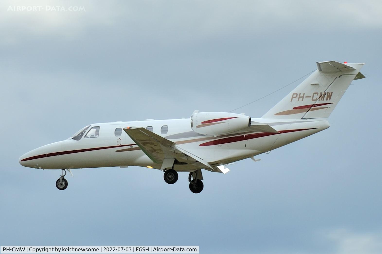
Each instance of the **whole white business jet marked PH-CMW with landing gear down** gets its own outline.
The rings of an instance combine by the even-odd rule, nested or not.
[[[189,189],[203,190],[202,169],[227,173],[235,161],[251,158],[329,128],[327,118],[364,63],[317,62],[317,70],[261,118],[194,111],[189,119],[91,124],[67,140],[41,146],[20,157],[22,166],[66,170],[141,166],[160,169],[173,184],[189,172]],[[65,174],[64,174],[65,172]]]

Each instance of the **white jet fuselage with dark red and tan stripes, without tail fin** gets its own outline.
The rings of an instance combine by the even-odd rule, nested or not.
[[[201,135],[191,129],[190,119],[146,120],[92,124],[99,127],[97,137],[81,137],[51,143],[20,157],[26,167],[37,169],[74,169],[90,167],[142,166],[160,169],[124,132],[126,127],[152,127],[152,132],[203,158],[212,166],[256,156],[307,137],[330,125],[327,120],[252,119],[266,123],[280,133],[237,131],[226,135]],[[165,126],[165,127],[163,127]],[[166,127],[167,126],[167,127]],[[166,131],[167,130],[167,131]],[[119,135],[120,134],[120,135]],[[192,164],[176,164],[176,171],[194,171]]]

